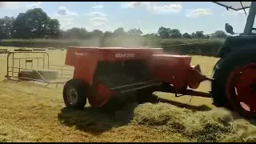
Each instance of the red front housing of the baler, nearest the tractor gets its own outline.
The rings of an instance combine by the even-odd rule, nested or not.
[[[190,62],[190,56],[154,54],[150,66],[159,81],[172,84],[174,92],[178,93],[186,86],[197,89],[200,82],[210,80],[190,66]]]

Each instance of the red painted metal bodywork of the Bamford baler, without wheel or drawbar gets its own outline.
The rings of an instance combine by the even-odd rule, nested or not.
[[[74,78],[82,79],[88,86],[99,90],[88,97],[93,106],[103,106],[114,94],[110,87],[94,85],[98,62],[127,61],[145,63],[151,79],[170,83],[175,93],[187,86],[196,89],[200,82],[210,80],[190,66],[190,56],[165,54],[162,48],[68,47],[66,52],[66,65],[74,66]]]

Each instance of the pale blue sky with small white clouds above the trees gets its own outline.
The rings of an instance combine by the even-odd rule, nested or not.
[[[234,32],[240,33],[246,23],[243,10],[226,10],[213,2],[0,2],[0,18],[16,17],[34,7],[57,18],[62,30],[85,27],[113,31],[123,27],[139,28],[147,34],[165,26],[182,34],[198,30],[211,34],[225,31],[225,23],[230,23]]]

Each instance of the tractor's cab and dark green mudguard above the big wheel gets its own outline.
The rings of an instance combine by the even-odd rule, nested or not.
[[[224,58],[231,51],[238,50],[245,46],[256,46],[256,2],[214,2],[219,6],[226,7],[226,10],[243,10],[246,14],[246,26],[241,34],[235,33],[233,27],[226,23],[226,33],[231,34],[224,42],[224,45],[218,50],[219,57]],[[249,13],[246,13],[246,9],[249,9]],[[236,35],[234,35],[236,34]]]

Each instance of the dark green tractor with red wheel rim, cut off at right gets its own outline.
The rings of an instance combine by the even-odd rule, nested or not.
[[[214,66],[211,97],[215,106],[227,106],[246,118],[256,117],[256,28],[254,19],[256,2],[214,2],[227,10],[250,8],[243,33],[234,33],[226,23],[226,33],[231,34],[218,50],[219,61]],[[254,31],[255,30],[255,31]],[[234,35],[236,34],[236,35]]]

